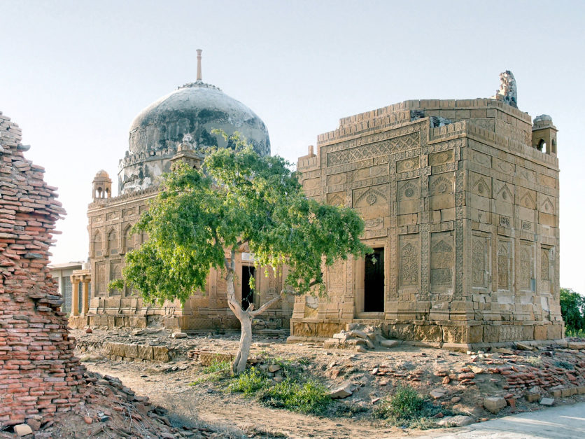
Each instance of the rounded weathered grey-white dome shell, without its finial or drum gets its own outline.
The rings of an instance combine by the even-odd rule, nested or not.
[[[262,120],[219,88],[197,81],[163,96],[136,116],[129,130],[129,153],[160,151],[190,134],[199,146],[225,146],[220,129],[238,131],[261,155],[270,153],[268,131]]]

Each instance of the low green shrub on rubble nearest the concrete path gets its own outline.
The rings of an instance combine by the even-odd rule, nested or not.
[[[437,428],[435,415],[456,414],[449,407],[434,405],[409,386],[401,386],[374,409],[374,417],[385,419],[389,424],[404,428]]]

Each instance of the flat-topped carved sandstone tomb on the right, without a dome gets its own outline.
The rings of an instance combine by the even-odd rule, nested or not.
[[[374,255],[330,267],[327,297],[296,299],[293,340],[356,321],[445,347],[563,337],[557,130],[501,78],[491,99],[343,118],[299,158],[306,195],[358,210]]]

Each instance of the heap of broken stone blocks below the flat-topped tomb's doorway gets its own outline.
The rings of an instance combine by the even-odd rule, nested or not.
[[[387,340],[383,337],[380,326],[348,323],[346,330],[341,330],[325,340],[324,347],[328,349],[355,349],[358,352],[365,352],[366,349],[394,347],[397,344],[400,342]]]

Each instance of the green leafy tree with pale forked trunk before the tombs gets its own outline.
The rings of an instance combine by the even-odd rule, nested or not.
[[[206,156],[204,170],[179,165],[164,177],[134,226],[149,239],[127,253],[122,276],[150,302],[184,303],[204,291],[211,267],[223,270],[228,305],[241,323],[232,363],[239,373],[248,361],[255,316],[287,293],[324,293],[323,264],[363,256],[369,248],[360,242],[364,223],[355,211],[306,198],[286,160],[260,157],[237,135],[230,141],[234,148]],[[258,309],[243,309],[234,293],[235,256],[244,246],[258,266],[288,266],[286,287]],[[112,286],[122,284],[120,279]]]

